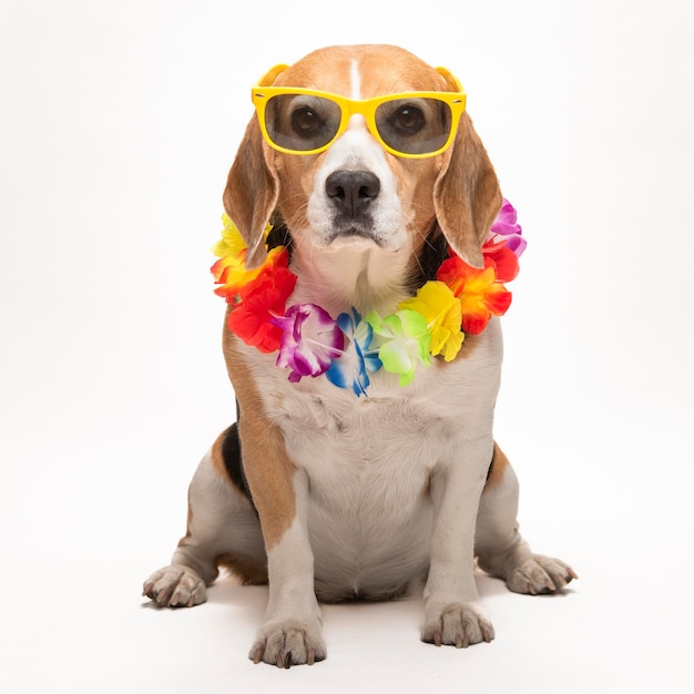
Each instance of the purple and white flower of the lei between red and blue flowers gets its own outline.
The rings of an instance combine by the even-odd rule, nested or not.
[[[277,366],[292,369],[289,380],[320,376],[343,354],[345,335],[329,314],[315,304],[289,306],[271,322],[282,328]]]

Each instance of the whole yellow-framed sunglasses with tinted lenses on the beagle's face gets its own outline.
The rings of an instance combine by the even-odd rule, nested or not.
[[[325,152],[341,135],[355,114],[365,118],[369,132],[396,156],[435,156],[453,141],[466,93],[446,68],[450,92],[404,92],[372,99],[347,99],[298,86],[272,86],[288,65],[275,65],[253,88],[251,98],[267,143],[288,154]]]

